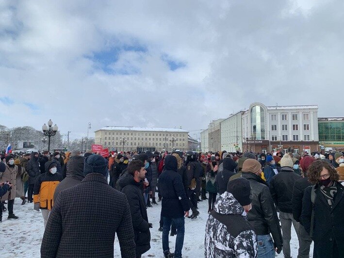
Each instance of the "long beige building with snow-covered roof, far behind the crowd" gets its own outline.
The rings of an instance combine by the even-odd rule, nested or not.
[[[95,144],[109,150],[164,151],[188,149],[188,131],[176,128],[106,126],[95,131]]]

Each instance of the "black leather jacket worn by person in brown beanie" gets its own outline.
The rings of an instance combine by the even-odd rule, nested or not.
[[[252,210],[247,214],[249,223],[257,235],[268,235],[271,232],[275,247],[281,250],[282,233],[269,187],[261,177],[253,173],[244,172],[241,177],[246,178],[252,188]]]

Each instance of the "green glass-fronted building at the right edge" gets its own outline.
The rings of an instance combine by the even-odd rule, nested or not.
[[[319,117],[318,131],[319,144],[325,150],[344,150],[344,117]]]

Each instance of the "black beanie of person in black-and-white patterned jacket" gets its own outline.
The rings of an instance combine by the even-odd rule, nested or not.
[[[244,177],[231,180],[227,184],[227,192],[233,194],[234,198],[241,206],[252,203],[251,186]]]

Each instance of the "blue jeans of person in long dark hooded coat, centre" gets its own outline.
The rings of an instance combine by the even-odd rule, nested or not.
[[[177,228],[177,237],[176,237],[176,247],[174,250],[174,257],[181,258],[181,250],[183,249],[184,244],[184,233],[185,233],[185,221],[184,217],[180,218],[168,218],[164,217],[164,227],[163,227],[163,251],[164,253],[169,251],[168,246],[168,234],[170,232],[172,221]]]

